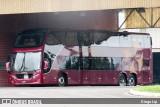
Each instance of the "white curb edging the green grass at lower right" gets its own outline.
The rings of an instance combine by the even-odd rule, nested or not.
[[[140,91],[135,91],[133,89],[130,90],[130,94],[137,96],[160,97],[160,93],[140,92]]]

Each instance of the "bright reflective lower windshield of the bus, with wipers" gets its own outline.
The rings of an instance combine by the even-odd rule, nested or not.
[[[11,57],[13,72],[37,71],[41,66],[41,52],[14,53]]]

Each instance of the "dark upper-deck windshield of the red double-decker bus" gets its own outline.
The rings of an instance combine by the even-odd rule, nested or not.
[[[38,47],[43,44],[43,39],[44,33],[20,34],[16,39],[15,47]]]

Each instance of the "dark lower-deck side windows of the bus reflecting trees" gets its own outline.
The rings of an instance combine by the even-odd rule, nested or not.
[[[121,58],[108,58],[108,57],[83,57],[83,70],[118,70],[120,69]],[[79,57],[64,57],[60,64],[61,70],[79,70],[80,58]]]

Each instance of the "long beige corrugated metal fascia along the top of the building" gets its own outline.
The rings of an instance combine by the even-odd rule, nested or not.
[[[159,0],[0,0],[0,14],[160,7]]]

